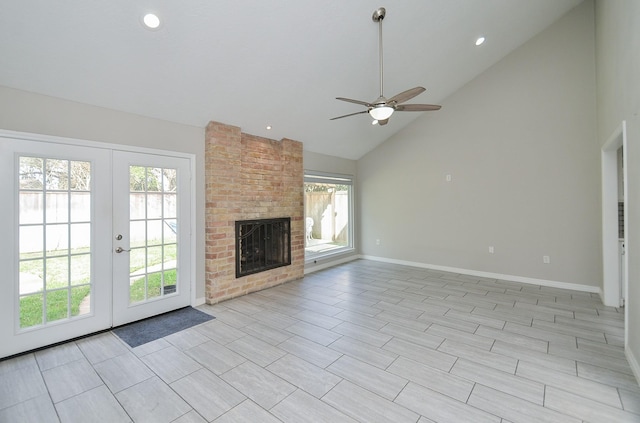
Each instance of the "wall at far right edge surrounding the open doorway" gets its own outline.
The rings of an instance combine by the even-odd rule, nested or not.
[[[598,142],[627,121],[627,357],[640,379],[640,2],[596,1]]]

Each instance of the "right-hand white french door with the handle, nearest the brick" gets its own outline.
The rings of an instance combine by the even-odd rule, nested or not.
[[[189,160],[113,152],[113,325],[189,305]]]

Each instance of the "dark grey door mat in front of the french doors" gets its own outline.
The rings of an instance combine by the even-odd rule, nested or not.
[[[215,317],[193,307],[185,307],[119,326],[113,329],[113,333],[129,344],[131,348],[135,348],[211,319],[215,319]]]

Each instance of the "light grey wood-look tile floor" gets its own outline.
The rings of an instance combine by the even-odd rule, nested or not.
[[[358,260],[200,309],[0,362],[0,422],[640,422],[594,294]]]

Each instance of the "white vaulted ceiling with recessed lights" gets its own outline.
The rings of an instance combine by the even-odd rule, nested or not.
[[[581,0],[0,1],[0,85],[357,159],[425,115],[329,120],[379,95],[377,7],[385,96],[438,104]]]

